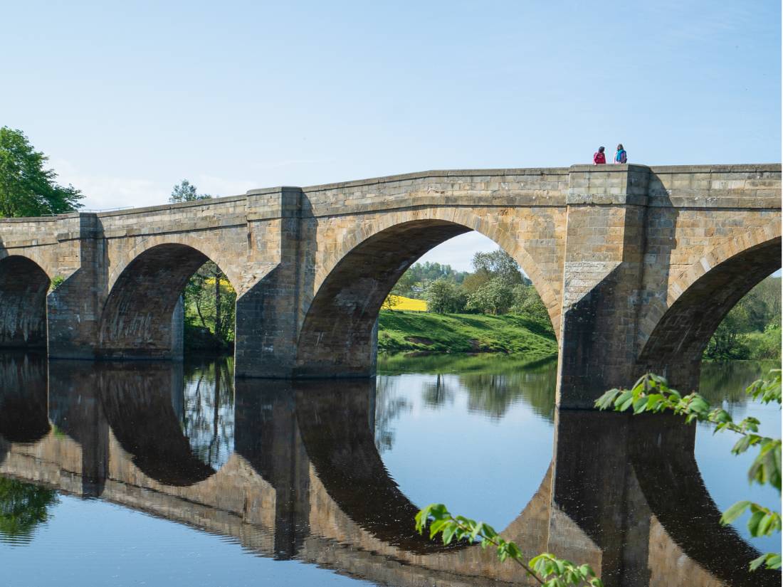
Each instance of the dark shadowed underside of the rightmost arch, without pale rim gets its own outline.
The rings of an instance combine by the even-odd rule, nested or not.
[[[637,371],[665,375],[684,391],[698,387],[702,353],[709,338],[731,308],[780,267],[778,236],[709,268],[663,313],[640,352]]]

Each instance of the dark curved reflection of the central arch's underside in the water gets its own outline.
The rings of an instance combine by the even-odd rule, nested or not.
[[[410,553],[463,549],[419,535],[419,508],[389,475],[375,446],[374,380],[298,381],[296,416],[307,456],[337,506],[375,538]]]

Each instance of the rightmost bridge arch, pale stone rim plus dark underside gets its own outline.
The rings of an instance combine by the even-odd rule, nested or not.
[[[781,267],[780,226],[757,229],[714,247],[669,284],[640,328],[637,370],[669,377],[683,391],[698,387],[702,353],[727,313]]]

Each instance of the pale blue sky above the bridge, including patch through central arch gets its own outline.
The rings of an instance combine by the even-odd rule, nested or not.
[[[2,2],[2,15],[0,124],[89,208],[163,203],[182,178],[231,195],[567,166],[617,142],[643,164],[781,160],[780,2]],[[459,242],[436,257],[467,266],[487,246]]]

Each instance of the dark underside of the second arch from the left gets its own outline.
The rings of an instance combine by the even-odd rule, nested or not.
[[[103,358],[181,354],[172,317],[190,277],[211,259],[187,244],[148,244],[110,277],[99,322],[97,354]]]

